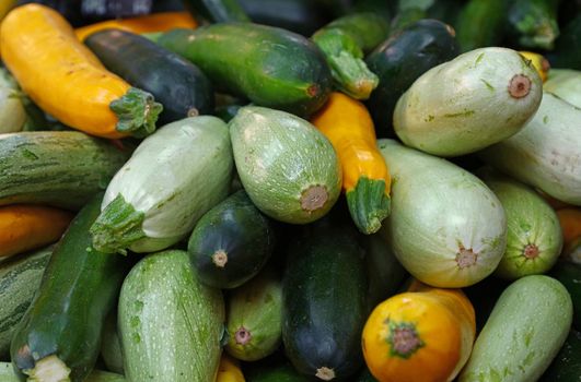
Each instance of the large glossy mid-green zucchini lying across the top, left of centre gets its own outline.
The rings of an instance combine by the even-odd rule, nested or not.
[[[255,105],[309,116],[330,92],[330,70],[319,49],[281,28],[221,23],[174,29],[158,44],[198,65],[220,91]]]

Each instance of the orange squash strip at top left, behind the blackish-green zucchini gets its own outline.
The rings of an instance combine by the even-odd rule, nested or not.
[[[79,40],[95,32],[115,28],[131,33],[155,33],[173,28],[195,28],[196,21],[188,12],[161,12],[132,19],[107,20],[74,29]]]

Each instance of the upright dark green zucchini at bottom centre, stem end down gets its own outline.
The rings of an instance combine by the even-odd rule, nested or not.
[[[357,235],[326,217],[288,249],[282,342],[294,368],[311,378],[349,379],[362,365],[368,280]]]

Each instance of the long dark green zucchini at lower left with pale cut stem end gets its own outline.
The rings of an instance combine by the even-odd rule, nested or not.
[[[95,196],[60,239],[12,337],[12,363],[33,381],[48,381],[47,373],[56,381],[82,381],[97,359],[105,318],[130,266],[130,258],[91,244],[89,228],[102,199]]]

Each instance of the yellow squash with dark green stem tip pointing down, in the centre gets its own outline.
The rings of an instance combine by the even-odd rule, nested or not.
[[[391,178],[368,109],[342,93],[333,93],[311,122],[339,156],[342,189],[355,224],[363,234],[376,232],[390,215]]]

